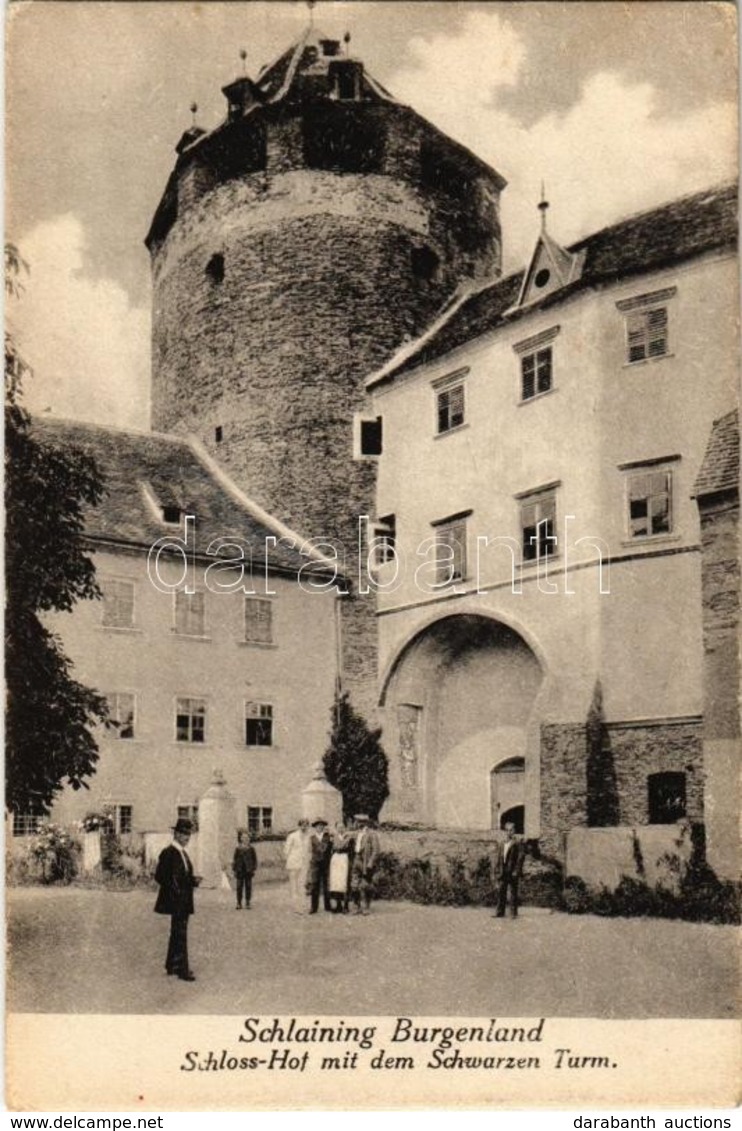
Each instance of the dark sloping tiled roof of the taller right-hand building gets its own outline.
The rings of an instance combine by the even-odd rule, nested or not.
[[[373,388],[441,357],[482,334],[534,310],[554,305],[577,291],[659,270],[702,252],[734,247],[736,236],[736,184],[682,197],[662,208],[621,221],[569,248],[570,252],[585,257],[579,279],[518,310],[510,308],[518,299],[523,271],[481,287],[452,305],[435,331],[419,339],[419,348],[415,344],[406,346],[373,373],[368,387]]]

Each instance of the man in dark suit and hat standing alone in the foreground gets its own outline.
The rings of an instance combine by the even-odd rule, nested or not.
[[[193,888],[200,880],[193,875],[193,865],[186,852],[191,831],[191,822],[179,817],[173,827],[173,843],[161,852],[155,871],[159,884],[155,910],[158,915],[170,915],[165,969],[182,982],[196,981],[188,962],[188,917],[193,914]]]

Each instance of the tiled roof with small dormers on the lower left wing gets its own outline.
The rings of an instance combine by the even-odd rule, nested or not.
[[[245,558],[252,555],[257,568],[265,568],[266,538],[279,539],[285,530],[266,521],[265,512],[187,439],[51,416],[34,417],[33,430],[42,442],[75,447],[95,459],[104,494],[86,515],[85,533],[93,542],[144,549],[167,535],[182,537],[182,521],[176,528],[159,518],[162,507],[174,507],[196,516],[197,554],[216,538],[232,539],[244,547]],[[301,545],[300,536],[295,541]],[[267,559],[278,572],[296,573],[307,566],[307,558],[279,541]]]

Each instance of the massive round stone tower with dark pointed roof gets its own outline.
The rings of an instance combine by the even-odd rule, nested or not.
[[[313,32],[224,94],[223,124],[179,141],[146,240],[153,426],[197,434],[354,570],[383,443],[383,422],[359,426],[363,380],[500,273],[504,181]],[[345,674],[373,682],[354,638]]]

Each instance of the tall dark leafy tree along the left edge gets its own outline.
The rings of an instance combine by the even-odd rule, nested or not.
[[[27,270],[6,247],[6,293]],[[72,677],[72,663],[43,614],[98,597],[81,542],[84,509],[102,494],[85,452],[34,435],[20,404],[28,368],[6,335],[6,805],[48,810],[69,784],[95,772],[90,727],[109,717],[105,699]]]

